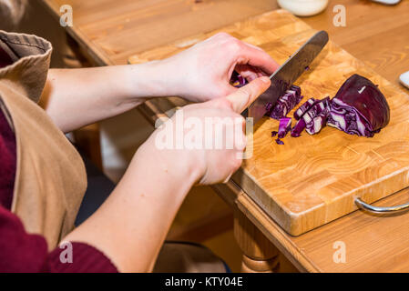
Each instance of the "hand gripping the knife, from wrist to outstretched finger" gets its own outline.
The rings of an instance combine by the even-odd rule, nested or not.
[[[245,119],[240,113],[270,84],[269,77],[263,76],[231,95],[182,107],[137,155],[149,156],[153,163],[174,175],[189,176],[199,185],[227,182],[240,167],[246,146]],[[221,142],[219,147],[216,141]]]

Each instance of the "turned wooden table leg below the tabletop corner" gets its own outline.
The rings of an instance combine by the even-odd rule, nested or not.
[[[279,251],[239,209],[234,213],[234,236],[243,252],[241,272],[279,271]]]

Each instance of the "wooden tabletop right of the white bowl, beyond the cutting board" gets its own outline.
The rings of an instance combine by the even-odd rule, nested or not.
[[[345,7],[345,26],[333,25],[335,5]],[[402,0],[399,5],[381,5],[371,0],[330,0],[322,14],[302,20],[312,28],[327,30],[335,44],[394,84],[399,83],[400,74],[409,70],[408,0]]]

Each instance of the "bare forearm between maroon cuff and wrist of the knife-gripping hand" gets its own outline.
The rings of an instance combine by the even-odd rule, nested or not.
[[[151,154],[142,146],[104,205],[65,240],[96,246],[122,272],[151,271],[170,224],[197,179],[183,161],[174,165],[178,163]]]

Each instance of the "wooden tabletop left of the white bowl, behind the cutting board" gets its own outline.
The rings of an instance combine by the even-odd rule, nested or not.
[[[66,30],[97,65],[127,64],[129,55],[277,8],[266,0],[36,1],[56,17],[72,6],[74,26]]]

